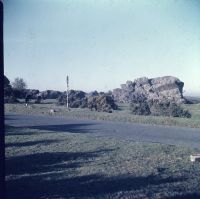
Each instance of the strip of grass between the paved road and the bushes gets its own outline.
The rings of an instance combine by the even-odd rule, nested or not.
[[[200,104],[183,105],[192,113],[192,118],[173,118],[173,117],[156,117],[156,116],[138,116],[132,115],[129,111],[128,104],[119,104],[119,110],[113,113],[103,113],[90,111],[89,109],[73,108],[67,111],[65,106],[58,106],[54,101],[44,101],[42,104],[5,104],[5,112],[16,112],[23,114],[49,114],[50,109],[55,109],[55,116],[69,117],[75,119],[94,119],[120,122],[135,122],[153,125],[170,125],[200,128]]]

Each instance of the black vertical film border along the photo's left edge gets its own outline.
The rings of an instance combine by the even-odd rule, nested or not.
[[[0,1],[0,198],[5,198],[3,2]]]

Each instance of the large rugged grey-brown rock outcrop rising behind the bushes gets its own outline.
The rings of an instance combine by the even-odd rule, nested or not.
[[[121,88],[114,89],[112,94],[118,102],[132,102],[137,98],[147,100],[173,101],[185,103],[183,97],[184,83],[176,77],[164,76],[148,79],[147,77],[127,81]]]

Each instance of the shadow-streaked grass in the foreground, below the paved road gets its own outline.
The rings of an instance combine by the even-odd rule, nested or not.
[[[200,149],[6,127],[8,198],[200,197]]]

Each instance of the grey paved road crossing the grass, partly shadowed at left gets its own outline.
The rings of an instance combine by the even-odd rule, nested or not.
[[[188,147],[200,147],[200,128],[153,126],[122,122],[72,120],[52,116],[6,114],[5,124],[40,130],[71,133],[89,133],[124,140],[157,142]]]

